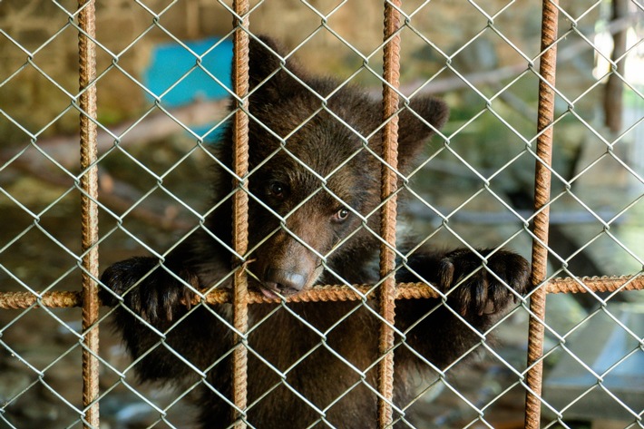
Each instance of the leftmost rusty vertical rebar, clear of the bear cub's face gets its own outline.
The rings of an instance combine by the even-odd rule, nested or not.
[[[79,0],[78,53],[81,112],[81,216],[83,240],[83,427],[99,427],[98,376],[98,169],[96,146],[96,37],[93,0]]]

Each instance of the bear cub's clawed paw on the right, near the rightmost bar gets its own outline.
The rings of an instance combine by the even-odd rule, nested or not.
[[[486,263],[468,249],[449,252],[439,263],[439,287],[449,291],[448,302],[463,316],[502,312],[529,290],[525,258],[507,250],[477,251]]]

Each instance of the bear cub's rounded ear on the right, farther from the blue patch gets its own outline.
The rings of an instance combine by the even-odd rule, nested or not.
[[[398,168],[405,170],[423,150],[424,143],[447,121],[447,104],[434,97],[417,95],[399,113]],[[431,125],[431,126],[430,126]]]

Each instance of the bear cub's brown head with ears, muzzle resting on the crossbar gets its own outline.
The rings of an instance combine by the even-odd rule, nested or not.
[[[378,254],[382,102],[312,76],[266,37],[249,48],[249,264],[268,297],[352,281]],[[447,119],[415,96],[399,113],[398,171]],[[350,262],[348,262],[350,261]]]

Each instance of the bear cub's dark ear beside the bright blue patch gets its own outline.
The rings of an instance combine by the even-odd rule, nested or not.
[[[285,63],[287,54],[288,51],[270,37],[250,37],[249,86],[258,98],[261,97],[262,103],[278,101],[297,85],[297,81],[284,71],[286,67],[291,73],[300,74],[297,63],[292,60]]]

